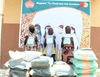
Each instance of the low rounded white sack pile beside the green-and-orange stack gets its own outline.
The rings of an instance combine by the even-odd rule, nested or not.
[[[52,68],[57,77],[76,77],[77,75],[70,65],[63,61],[56,61]]]

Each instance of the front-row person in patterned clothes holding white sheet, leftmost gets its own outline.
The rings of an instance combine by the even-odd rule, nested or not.
[[[35,33],[35,27],[29,24],[28,32],[25,35],[24,49],[25,51],[37,51],[39,38]]]

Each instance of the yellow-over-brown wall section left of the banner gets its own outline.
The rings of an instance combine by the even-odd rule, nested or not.
[[[4,63],[10,59],[9,50],[23,50],[18,47],[20,12],[21,0],[5,0],[0,67],[3,67]]]

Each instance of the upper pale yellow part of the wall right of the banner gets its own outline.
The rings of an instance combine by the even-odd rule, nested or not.
[[[100,0],[91,0],[91,27],[100,27]]]

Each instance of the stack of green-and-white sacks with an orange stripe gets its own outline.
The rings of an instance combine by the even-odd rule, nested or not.
[[[91,48],[83,48],[75,51],[72,68],[77,73],[77,77],[95,77],[94,73],[98,68],[97,57]]]

